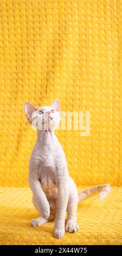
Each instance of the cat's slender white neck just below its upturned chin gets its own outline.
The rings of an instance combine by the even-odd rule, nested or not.
[[[55,142],[56,136],[55,136],[55,132],[48,130],[48,131],[44,131],[44,130],[37,130],[37,141],[36,143],[38,145],[41,146],[46,146],[49,144],[53,144]]]

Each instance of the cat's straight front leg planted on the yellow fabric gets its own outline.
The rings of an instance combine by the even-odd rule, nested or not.
[[[54,225],[54,235],[61,238],[65,235],[65,216],[69,196],[68,176],[61,175],[57,181],[57,212]]]

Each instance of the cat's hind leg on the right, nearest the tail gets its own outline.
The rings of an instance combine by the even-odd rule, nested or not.
[[[76,223],[76,211],[78,206],[78,191],[76,186],[72,192],[69,193],[69,200],[67,205],[67,220],[66,220],[66,231],[70,233],[79,230],[78,224]]]

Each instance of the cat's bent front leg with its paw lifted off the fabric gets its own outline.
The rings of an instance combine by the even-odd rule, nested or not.
[[[40,181],[33,175],[29,175],[29,185],[33,191],[34,198],[37,202],[37,210],[43,218],[47,219],[50,215],[50,205],[48,203],[46,194],[43,192]]]

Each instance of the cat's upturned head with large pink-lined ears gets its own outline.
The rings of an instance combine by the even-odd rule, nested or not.
[[[61,107],[58,99],[55,99],[50,106],[39,108],[26,101],[24,110],[29,123],[37,130],[55,130],[61,120]]]

